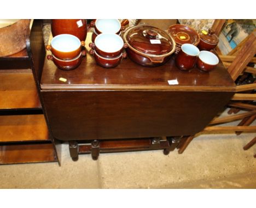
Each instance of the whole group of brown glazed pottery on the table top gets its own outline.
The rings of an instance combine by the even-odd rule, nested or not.
[[[89,47],[96,64],[114,68],[128,56],[139,65],[156,67],[173,57],[182,71],[197,67],[208,72],[219,63],[218,57],[210,52],[218,44],[218,36],[211,29],[199,34],[185,25],[172,25],[167,32],[153,26],[137,25],[124,31],[127,23],[128,20],[120,22],[117,19],[91,21],[93,32]],[[77,68],[85,56],[86,20],[53,20],[51,26],[54,38],[46,46],[52,53],[47,58],[59,69]]]

